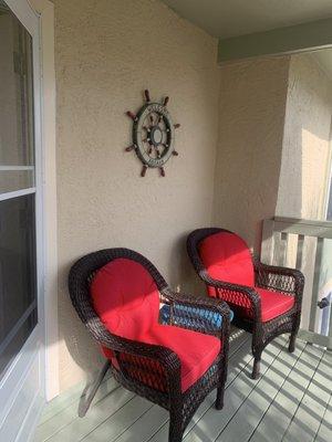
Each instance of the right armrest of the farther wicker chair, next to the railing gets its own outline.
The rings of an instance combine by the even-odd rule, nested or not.
[[[255,261],[256,285],[262,288],[272,288],[302,299],[304,275],[295,269],[279,267]]]

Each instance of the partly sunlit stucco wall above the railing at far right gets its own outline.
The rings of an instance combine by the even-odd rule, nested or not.
[[[324,219],[332,81],[310,54],[291,57],[277,214]]]

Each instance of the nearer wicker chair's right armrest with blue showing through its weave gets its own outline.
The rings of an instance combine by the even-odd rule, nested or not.
[[[170,305],[172,324],[228,339],[230,309],[224,301],[175,293],[170,290],[164,291],[162,295]]]

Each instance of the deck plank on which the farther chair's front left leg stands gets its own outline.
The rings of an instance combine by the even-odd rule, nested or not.
[[[273,344],[268,346],[261,360],[262,377],[280,351],[282,351],[282,346],[284,345],[284,338],[277,338]],[[226,390],[224,409],[218,411],[211,407],[184,438],[185,442],[211,442],[218,438],[222,429],[236,414],[242,401],[246,400],[255,388],[256,381],[250,378],[251,368],[250,365],[249,369],[243,369],[231,383],[231,388]]]

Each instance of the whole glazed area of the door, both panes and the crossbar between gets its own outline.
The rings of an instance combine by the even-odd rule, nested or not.
[[[32,38],[0,1],[0,376],[37,324]]]

